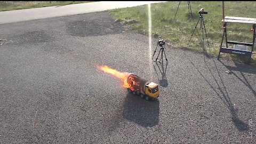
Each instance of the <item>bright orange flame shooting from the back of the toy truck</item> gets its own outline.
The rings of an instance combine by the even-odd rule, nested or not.
[[[132,89],[132,90],[134,89],[134,88],[131,86],[131,84],[129,84],[129,83],[127,82],[127,78],[128,78],[128,76],[130,75],[129,73],[125,73],[125,72],[122,73],[122,72],[117,71],[117,70],[115,70],[115,69],[113,69],[113,68],[110,68],[110,67],[108,67],[108,66],[97,66],[97,68],[100,69],[100,70],[102,70],[102,71],[104,71],[105,73],[111,74],[111,75],[113,75],[113,76],[115,76],[115,77],[121,79],[121,81],[123,82],[123,86],[124,86],[124,87],[130,88],[130,89]]]

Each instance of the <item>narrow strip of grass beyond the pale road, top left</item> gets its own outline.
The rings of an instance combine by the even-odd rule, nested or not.
[[[88,2],[92,1],[1,1],[0,11],[21,10],[36,7],[58,6]]]

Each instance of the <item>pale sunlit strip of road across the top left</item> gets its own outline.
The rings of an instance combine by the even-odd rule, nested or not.
[[[15,10],[0,12],[0,24],[20,22],[35,19],[61,17],[65,15],[75,15],[90,12],[100,12],[111,9],[119,9],[125,7],[132,7],[138,5],[145,5],[149,3],[162,3],[164,1],[124,1],[124,2],[92,2],[82,4],[70,4],[64,6],[50,6],[40,7],[35,9]]]

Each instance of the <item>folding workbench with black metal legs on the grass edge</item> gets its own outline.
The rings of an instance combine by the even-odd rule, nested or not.
[[[223,35],[222,35],[218,60],[220,58],[220,53],[229,53],[229,54],[241,55],[243,57],[250,57],[250,59],[249,59],[249,62],[250,62],[251,57],[252,57],[254,43],[255,43],[255,38],[256,38],[256,33],[255,33],[256,19],[255,18],[242,18],[242,17],[225,17],[224,19],[222,19],[222,22],[223,22],[223,29],[224,30],[223,30]],[[228,41],[228,39],[227,39],[227,23],[228,22],[230,22],[230,23],[252,24],[252,32],[253,32],[252,43]],[[226,47],[222,47],[224,37],[225,37],[225,41],[226,41]],[[251,46],[252,49],[251,49],[251,51],[230,49],[230,48],[228,48],[228,44],[239,44],[239,45]]]

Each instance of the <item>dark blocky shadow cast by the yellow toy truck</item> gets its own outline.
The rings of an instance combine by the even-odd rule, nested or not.
[[[159,123],[159,101],[147,101],[128,93],[125,98],[123,118],[143,127],[152,127]]]

